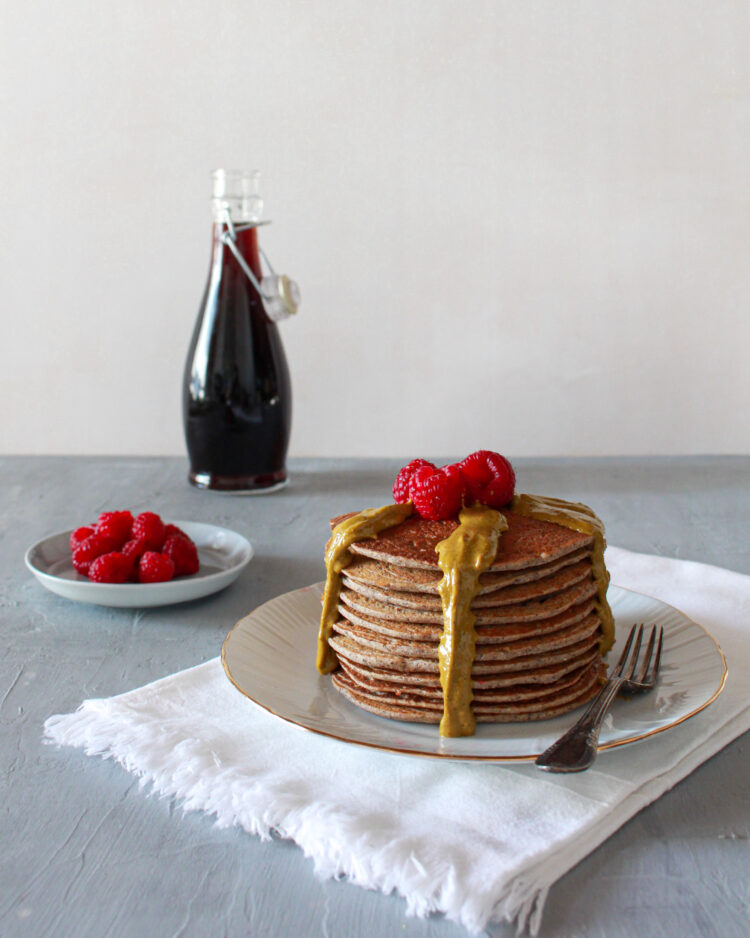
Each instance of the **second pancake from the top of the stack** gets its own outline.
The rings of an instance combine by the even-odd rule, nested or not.
[[[558,560],[542,563],[526,570],[506,572],[490,570],[489,573],[483,573],[480,576],[477,595],[482,596],[506,586],[542,579],[552,573],[557,573],[569,564],[585,560],[588,555],[589,551],[584,548],[573,551]],[[408,593],[433,593],[435,596],[439,595],[438,586],[443,578],[442,573],[437,569],[404,567],[364,556],[355,556],[349,566],[344,569],[344,574],[347,580],[375,589],[385,589],[389,592],[403,590]]]

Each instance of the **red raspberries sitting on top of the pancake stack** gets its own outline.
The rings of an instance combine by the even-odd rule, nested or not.
[[[500,453],[477,450],[461,462],[438,469],[426,459],[412,459],[393,483],[394,501],[411,501],[431,521],[455,517],[463,505],[504,508],[513,498],[516,475]]]

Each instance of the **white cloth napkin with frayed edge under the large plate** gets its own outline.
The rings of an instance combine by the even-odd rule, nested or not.
[[[404,897],[473,932],[538,931],[550,885],[642,807],[750,728],[750,577],[609,548],[612,581],[701,623],[727,657],[722,695],[685,723],[603,753],[594,768],[461,764],[303,732],[242,697],[219,659],[45,724],[49,740],[114,758],[186,809],[267,838],[321,876]]]

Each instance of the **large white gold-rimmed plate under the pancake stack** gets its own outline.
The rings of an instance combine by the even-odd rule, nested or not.
[[[571,714],[536,723],[480,723],[475,736],[445,739],[436,725],[388,720],[361,710],[315,668],[323,584],[278,596],[229,633],[221,660],[229,680],[256,704],[304,729],[389,752],[461,761],[526,762],[571,725]],[[661,677],[655,690],[616,700],[600,735],[600,749],[661,733],[707,707],[721,693],[726,662],[697,623],[659,600],[617,586],[608,593],[618,645],[638,622],[664,627]]]

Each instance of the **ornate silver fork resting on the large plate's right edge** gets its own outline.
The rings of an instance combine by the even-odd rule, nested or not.
[[[643,626],[634,625],[606,683],[584,711],[581,718],[549,749],[537,756],[535,762],[547,772],[582,772],[596,759],[599,730],[610,704],[618,693],[642,694],[656,684],[661,666],[661,647],[664,629],[657,640],[656,626],[651,626],[646,653],[638,672],[638,658],[643,642]]]

